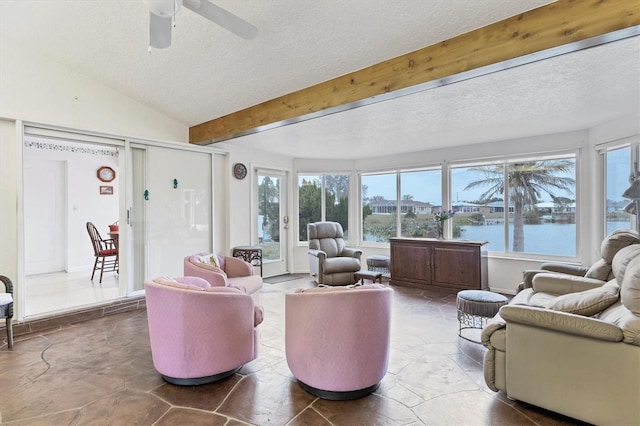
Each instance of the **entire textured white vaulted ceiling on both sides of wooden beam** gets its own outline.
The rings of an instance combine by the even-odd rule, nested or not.
[[[0,0],[0,37],[193,126],[549,3],[548,0],[218,0],[252,40],[182,9],[147,51],[142,0]],[[593,127],[640,114],[638,37],[227,144],[361,158]]]

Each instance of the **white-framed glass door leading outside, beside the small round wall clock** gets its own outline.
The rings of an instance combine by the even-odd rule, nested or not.
[[[262,248],[262,275],[287,273],[289,217],[286,202],[286,173],[256,170],[258,243]]]

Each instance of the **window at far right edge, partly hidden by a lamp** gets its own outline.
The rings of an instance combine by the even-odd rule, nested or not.
[[[635,228],[635,216],[629,212],[635,207],[632,200],[622,197],[629,187],[633,164],[638,164],[638,146],[618,147],[605,152],[606,162],[606,234],[616,229]]]

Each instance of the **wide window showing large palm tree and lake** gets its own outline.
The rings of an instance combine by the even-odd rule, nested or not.
[[[487,240],[490,251],[574,257],[575,164],[572,155],[453,167],[454,238]]]

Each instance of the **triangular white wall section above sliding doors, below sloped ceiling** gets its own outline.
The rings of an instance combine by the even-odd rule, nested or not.
[[[0,38],[0,117],[187,142],[189,128],[18,42]]]

